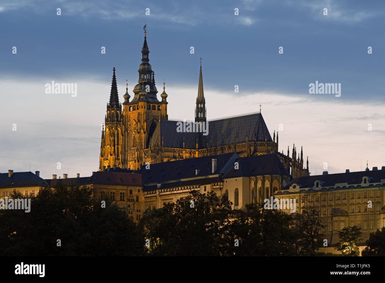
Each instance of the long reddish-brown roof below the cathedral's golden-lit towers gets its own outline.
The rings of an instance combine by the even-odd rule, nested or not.
[[[114,185],[114,186],[142,186],[141,174],[127,174],[110,171],[97,171],[90,177],[66,178],[66,179],[46,179],[49,186],[55,186],[58,182],[65,185],[84,186],[89,184]]]

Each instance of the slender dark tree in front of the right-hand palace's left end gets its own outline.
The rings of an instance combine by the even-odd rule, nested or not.
[[[310,206],[303,210],[300,217],[300,255],[315,256],[322,246],[323,234],[320,231],[325,227],[320,219],[320,211]]]

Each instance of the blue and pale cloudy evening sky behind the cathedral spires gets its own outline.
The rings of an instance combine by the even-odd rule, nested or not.
[[[329,173],[364,170],[367,161],[381,169],[384,13],[382,1],[0,0],[0,172],[99,169],[112,68],[120,101],[126,80],[132,98],[144,24],[169,119],[194,119],[202,57],[208,119],[261,104],[279,151],[303,146],[312,175],[325,162]],[[47,94],[52,81],[77,84],[77,95]],[[340,84],[340,96],[311,94],[316,81]]]

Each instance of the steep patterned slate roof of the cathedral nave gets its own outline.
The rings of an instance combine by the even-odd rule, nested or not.
[[[208,121],[208,135],[196,132],[177,132],[177,122],[171,120],[161,120],[151,137],[151,145],[154,146],[157,141],[164,147],[196,149],[198,139],[198,149],[208,147],[226,146],[227,138],[229,145],[236,144],[238,134],[238,144],[246,142],[248,136],[249,142],[265,141],[265,134],[268,142],[272,142],[271,136],[263,120],[261,113],[254,113],[243,116],[236,116],[225,119]],[[208,143],[208,144],[206,144]]]

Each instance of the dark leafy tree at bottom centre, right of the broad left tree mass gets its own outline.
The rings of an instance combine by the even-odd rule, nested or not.
[[[150,239],[150,255],[219,256],[226,246],[223,234],[229,213],[227,199],[191,191],[176,203],[147,211],[140,226]]]

